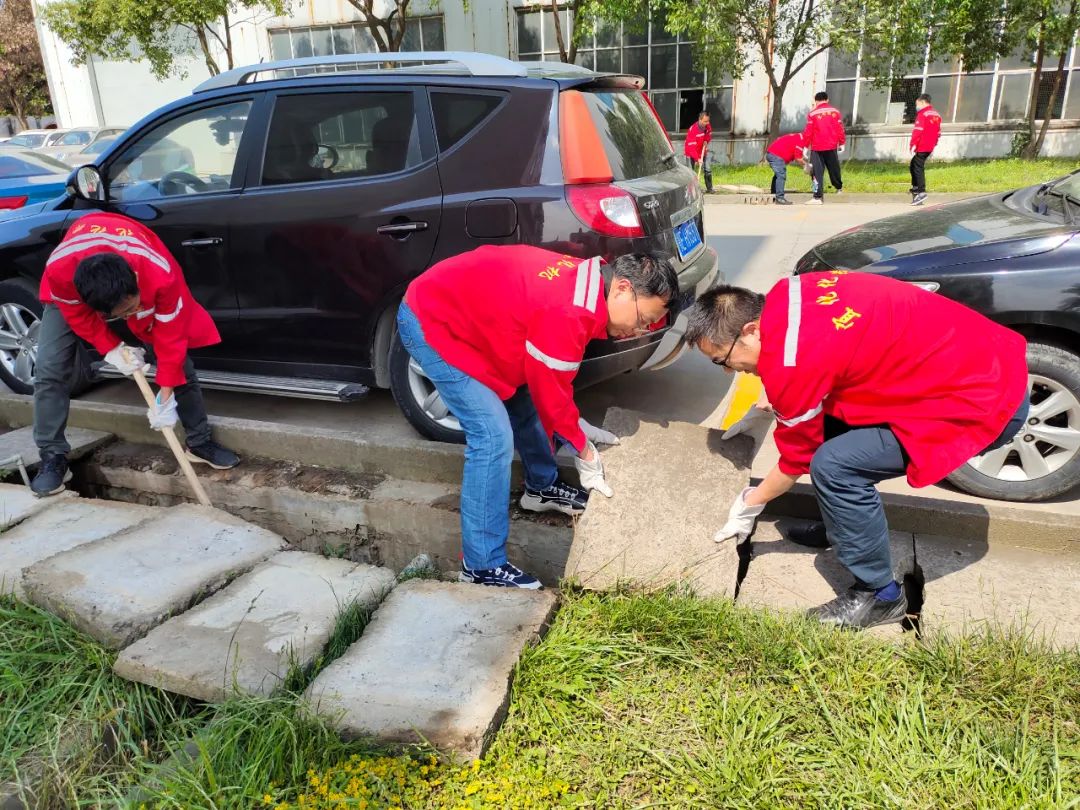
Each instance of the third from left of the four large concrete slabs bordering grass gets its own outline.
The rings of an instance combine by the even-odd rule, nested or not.
[[[282,552],[151,630],[113,672],[208,702],[270,694],[289,666],[306,667],[323,651],[343,608],[375,608],[393,585],[388,568]]]

